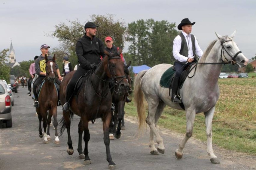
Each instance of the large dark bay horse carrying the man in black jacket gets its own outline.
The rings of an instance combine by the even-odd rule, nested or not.
[[[128,90],[128,82],[123,71],[123,61],[119,54],[122,52],[120,48],[118,52],[108,53],[105,51],[106,56],[102,59],[95,71],[88,72],[89,76],[84,80],[81,91],[77,96],[73,96],[70,100],[70,111],[63,111],[61,133],[67,128],[68,132],[68,149],[69,155],[74,153],[72,140],[70,136],[70,120],[74,114],[81,117],[78,125],[78,153],[79,158],[84,158],[84,164],[91,164],[88,156],[88,142],[90,140],[90,133],[88,129],[89,121],[94,122],[96,118],[101,118],[103,123],[104,144],[106,147],[107,161],[109,162],[108,168],[115,169],[115,163],[112,161],[110,148],[109,148],[109,124],[111,121],[111,101],[112,94],[109,89],[109,83],[114,82],[118,85],[119,94],[124,95]],[[60,98],[61,103],[65,102],[66,87],[73,76],[75,71],[71,71],[61,82]],[[84,152],[82,152],[82,133],[84,131]],[[84,153],[84,155],[83,155]]]

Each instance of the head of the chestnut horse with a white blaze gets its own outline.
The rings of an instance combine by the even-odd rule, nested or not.
[[[45,59],[45,72],[46,72],[46,79],[50,82],[55,82],[57,77],[57,69],[56,69],[56,57],[53,54],[53,58],[48,56],[47,54],[44,56]]]

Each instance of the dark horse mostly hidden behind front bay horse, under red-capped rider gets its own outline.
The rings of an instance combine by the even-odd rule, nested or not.
[[[131,84],[130,71],[128,69],[130,64],[131,64],[131,61],[128,62],[126,66],[124,65],[124,73],[127,81],[129,82],[129,85]],[[118,86],[116,86],[112,95],[112,103],[115,105],[115,110],[114,110],[114,114],[112,115],[113,122],[111,121],[110,128],[109,128],[110,139],[114,139],[113,134],[115,134],[115,138],[119,139],[121,136],[120,130],[124,130],[124,106],[126,102],[125,98],[126,98],[125,95],[120,95],[118,93]],[[118,126],[116,129],[117,124]]]

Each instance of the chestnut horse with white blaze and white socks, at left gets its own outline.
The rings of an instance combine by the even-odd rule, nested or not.
[[[50,123],[51,118],[53,116],[53,125],[55,127],[55,142],[59,144],[58,137],[58,121],[57,121],[57,100],[58,100],[58,92],[54,85],[55,80],[58,78],[56,71],[56,63],[55,63],[55,54],[53,55],[53,59],[48,59],[47,55],[45,55],[45,71],[46,77],[44,79],[43,85],[41,87],[40,94],[38,95],[39,107],[36,108],[36,112],[38,114],[39,119],[39,137],[44,137],[44,143],[48,143],[50,141]],[[47,113],[48,111],[48,113]],[[47,118],[48,115],[48,118]],[[43,127],[44,133],[42,133],[41,121],[43,119]],[[47,127],[47,133],[46,133]]]

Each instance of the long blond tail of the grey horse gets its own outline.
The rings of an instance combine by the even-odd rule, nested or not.
[[[146,72],[147,70],[141,71],[139,74],[137,74],[134,81],[134,103],[137,106],[138,119],[139,119],[138,135],[141,134],[146,128],[144,94],[141,89],[141,79]]]

